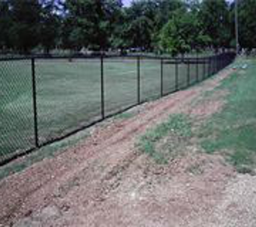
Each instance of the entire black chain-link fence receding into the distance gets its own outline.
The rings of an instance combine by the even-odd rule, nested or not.
[[[12,159],[15,159],[15,158],[19,157],[20,155],[24,155],[27,152],[31,152],[33,150],[36,150],[39,147],[45,146],[46,144],[50,144],[53,141],[57,141],[57,140],[65,138],[67,136],[70,136],[71,134],[78,132],[81,129],[85,129],[88,126],[91,126],[95,123],[100,122],[103,119],[106,119],[107,117],[113,116],[113,115],[120,113],[124,110],[132,108],[135,105],[138,105],[144,101],[147,101],[148,98],[153,97],[153,96],[151,96],[152,93],[157,92],[159,94],[158,96],[162,97],[164,95],[173,93],[179,89],[184,89],[186,87],[189,87],[191,84],[198,83],[198,82],[206,79],[207,77],[217,73],[219,70],[225,68],[227,65],[229,65],[234,60],[234,57],[235,57],[234,53],[222,53],[222,54],[209,56],[209,57],[203,57],[203,58],[165,58],[165,57],[163,58],[163,57],[150,57],[150,56],[143,56],[143,55],[125,56],[125,57],[121,57],[121,58],[120,58],[120,56],[103,56],[103,55],[100,56],[100,58],[99,57],[98,58],[96,58],[96,57],[95,58],[82,58],[82,57],[74,58],[73,60],[75,60],[75,61],[94,60],[91,63],[89,62],[90,64],[87,67],[92,67],[91,65],[93,65],[93,63],[95,63],[96,65],[93,66],[91,68],[91,70],[100,68],[99,80],[97,79],[98,75],[96,75],[94,77],[92,75],[89,75],[90,78],[92,80],[95,80],[96,82],[86,81],[87,83],[91,83],[91,86],[99,87],[100,96],[98,98],[98,101],[100,102],[100,105],[99,105],[99,107],[94,108],[93,107],[94,104],[97,104],[98,101],[95,102],[94,100],[91,100],[90,98],[87,100],[87,103],[89,103],[88,104],[89,106],[87,106],[87,103],[84,104],[84,106],[83,105],[80,106],[80,104],[78,104],[78,107],[80,109],[85,108],[85,111],[82,113],[87,114],[88,112],[90,112],[89,120],[84,120],[84,116],[82,115],[81,119],[78,118],[74,122],[72,121],[72,123],[70,123],[71,125],[68,125],[67,129],[64,129],[64,128],[57,129],[57,126],[58,126],[58,124],[57,124],[57,126],[53,127],[53,131],[50,130],[50,128],[49,128],[50,125],[47,125],[47,124],[54,123],[54,120],[50,119],[52,115],[48,116],[48,115],[46,115],[45,112],[51,111],[51,108],[54,108],[54,104],[47,104],[47,103],[45,104],[43,102],[44,96],[46,96],[46,94],[47,94],[47,90],[46,91],[44,90],[44,84],[40,84],[40,80],[44,80],[45,77],[51,77],[52,75],[50,73],[43,73],[44,75],[40,76],[40,70],[42,70],[42,69],[41,69],[39,61],[40,60],[43,61],[43,60],[61,60],[61,59],[65,60],[65,59],[67,59],[72,62],[73,60],[68,57],[64,57],[64,56],[60,57],[60,58],[57,58],[57,57],[53,57],[53,58],[31,57],[31,58],[16,58],[16,59],[10,59],[10,58],[0,59],[0,79],[2,79],[1,81],[3,81],[2,86],[4,88],[3,101],[2,102],[0,101],[0,110],[2,111],[2,116],[1,116],[1,112],[0,112],[0,117],[2,117],[1,121],[3,121],[3,124],[0,124],[0,134],[2,134],[2,137],[0,137],[0,165],[3,165]],[[17,89],[20,89],[23,92],[19,91],[19,90],[15,90],[15,89],[10,91],[10,90],[6,89],[4,86],[5,85],[6,85],[6,87],[11,86],[11,88],[13,88],[12,81],[11,82],[9,81],[10,78],[12,80],[12,76],[14,75],[14,73],[12,71],[19,70],[20,72],[23,72],[24,67],[25,67],[22,65],[22,62],[21,62],[21,65],[17,65],[17,66],[12,66],[12,64],[15,64],[13,62],[20,62],[22,60],[31,61],[31,63],[30,63],[30,65],[31,65],[31,69],[30,69],[31,70],[31,88],[30,88],[30,85],[27,83],[24,83],[25,85],[23,85],[23,87],[25,87],[25,88],[23,88],[23,87],[20,88],[20,85],[18,82],[17,83],[18,85],[16,87],[17,87]],[[109,61],[108,62],[107,60],[116,60],[116,61],[119,60],[119,61],[117,61],[117,62]],[[99,65],[97,65],[98,61],[99,61]],[[147,67],[145,67],[145,65],[147,63],[146,61],[152,61],[152,62],[149,62],[150,65],[151,65],[151,63],[153,65],[155,64],[155,66],[153,66],[153,69],[150,69],[150,71],[153,71],[153,73],[149,72],[147,74],[147,76],[145,76],[143,73],[144,72],[143,70],[149,70],[149,69],[147,69]],[[49,62],[51,62],[51,61],[49,61]],[[82,62],[82,63],[85,63],[85,62]],[[110,64],[110,63],[115,63],[115,65],[112,64],[111,67],[107,68],[108,64]],[[9,65],[9,64],[11,64],[11,68],[6,70],[6,65]],[[66,66],[66,64],[68,64],[68,63],[64,62],[61,65],[61,67]],[[135,73],[135,77],[123,76],[123,77],[118,77],[116,80],[111,79],[112,80],[111,85],[113,87],[113,89],[110,89],[111,91],[114,91],[114,89],[117,89],[117,90],[119,89],[120,91],[123,91],[128,88],[132,89],[134,91],[136,90],[136,93],[137,93],[136,100],[137,101],[136,102],[130,101],[127,98],[127,103],[129,103],[129,104],[124,105],[123,103],[126,103],[126,98],[121,97],[123,95],[123,93],[120,95],[116,92],[116,94],[114,94],[114,96],[111,96],[110,98],[107,97],[107,95],[109,95],[108,93],[110,92],[109,89],[107,89],[107,85],[109,85],[108,84],[109,78],[107,76],[107,70],[113,70],[113,66],[115,69],[115,67],[117,67],[117,66],[119,67],[119,65],[121,65],[122,67],[127,67],[129,65],[129,67],[130,67],[130,65],[132,65],[132,64],[134,64],[135,70],[130,70],[130,71],[124,73],[123,75],[128,75],[128,74],[132,75],[133,73]],[[78,66],[80,67],[80,65],[77,65],[77,67]],[[52,67],[54,67],[54,65]],[[81,67],[85,67],[85,66],[81,65]],[[118,69],[118,67],[117,67],[117,69]],[[167,70],[167,68],[168,68],[168,70]],[[68,69],[70,69],[70,68],[68,68]],[[82,68],[82,69],[84,69],[84,68]],[[185,71],[182,72],[182,69],[185,69]],[[200,69],[200,73],[199,73],[199,69]],[[159,72],[160,77],[157,77],[158,79],[155,79],[155,77],[158,75],[155,75],[154,70],[157,70],[157,72]],[[28,75],[25,74],[25,76],[24,76],[25,79],[23,79],[23,80],[26,80],[27,76]],[[49,79],[50,82],[47,84],[47,86],[49,86],[49,87],[52,86],[51,91],[53,93],[56,92],[57,88],[54,87],[51,83],[54,83],[55,81],[62,79],[62,76],[63,75],[60,74],[56,78]],[[21,77],[21,76],[19,75],[19,77]],[[112,75],[112,77],[113,77],[113,75]],[[68,79],[70,79],[70,77],[68,77]],[[143,82],[145,79],[146,79],[146,83],[148,82],[147,86],[145,85],[146,83]],[[166,81],[167,79],[168,79],[168,82]],[[20,79],[20,80],[22,81],[22,79]],[[71,78],[70,80],[73,80],[73,79]],[[82,80],[87,80],[87,79],[82,79]],[[133,83],[134,80],[136,80],[136,83]],[[74,79],[74,81],[75,81],[75,79]],[[72,82],[70,85],[72,85],[73,83],[74,82]],[[76,85],[78,86],[80,84],[78,83]],[[1,86],[1,84],[0,84],[0,86]],[[120,88],[121,86],[124,86],[124,87]],[[146,89],[144,88],[145,86],[146,86]],[[167,87],[167,92],[165,91],[166,86],[171,86],[171,89]],[[157,91],[158,88],[156,88],[156,87],[159,87],[160,90]],[[17,100],[19,100],[19,98],[20,98],[20,100],[22,100],[21,96],[17,96],[16,94],[17,93],[25,94],[25,93],[27,93],[28,89],[31,89],[31,102],[24,101],[24,103],[15,103]],[[95,90],[92,89],[92,90],[93,90],[93,92],[95,92],[95,94],[92,95],[88,91],[88,95],[91,95],[93,98],[98,97],[97,89],[95,89]],[[133,95],[134,91],[129,92],[129,95]],[[46,94],[44,94],[44,92]],[[61,90],[61,92],[63,92],[63,90]],[[11,94],[9,94],[9,93],[11,93]],[[42,93],[43,93],[43,95],[42,95]],[[113,99],[116,98],[115,96],[119,96],[119,95],[120,95],[120,97],[117,97],[117,98],[119,98],[118,101],[121,102],[121,107],[119,107],[119,105],[117,105],[118,103],[111,103],[111,102],[113,102]],[[5,96],[6,97],[8,96],[8,98],[4,99]],[[10,100],[9,100],[9,96],[11,97]],[[15,98],[12,98],[12,96],[14,96]],[[28,95],[28,96],[30,96],[30,95]],[[43,98],[42,98],[42,96],[43,96]],[[86,96],[87,96],[87,93],[86,93]],[[86,96],[84,97],[84,99],[81,100],[81,103],[86,102]],[[146,96],[146,98],[144,96]],[[52,99],[54,99],[54,97],[52,97]],[[41,100],[43,100],[43,101],[41,101]],[[76,98],[75,98],[75,100],[73,100],[73,102],[75,102],[75,101],[76,101]],[[65,104],[67,104],[66,102],[68,102],[68,105],[71,105],[73,107],[74,103],[72,103],[72,100],[69,100],[67,98],[67,100],[65,100],[65,102],[63,104],[63,107],[61,107],[60,110],[65,109]],[[14,106],[13,106],[13,103],[15,103]],[[30,103],[32,103],[31,108],[30,108]],[[111,107],[111,104],[113,104],[113,107]],[[16,106],[17,106],[17,108],[16,108]],[[29,111],[29,109],[24,109],[23,110],[24,116],[23,116],[23,115],[20,115],[18,107],[19,107],[19,109],[23,108],[23,107],[24,108],[29,107],[29,109],[32,109],[32,111]],[[98,108],[100,108],[99,111],[97,110]],[[109,109],[107,109],[107,108],[109,108]],[[43,111],[42,111],[42,109],[43,109]],[[72,109],[72,108],[69,108],[69,109]],[[92,117],[93,118],[96,117],[96,119],[90,120],[91,112],[95,112],[95,111],[100,112],[100,117],[98,116],[98,113],[93,113]],[[107,112],[107,111],[109,111],[109,112]],[[27,114],[29,116],[25,116],[25,112],[27,112]],[[59,111],[56,111],[53,113],[53,115],[57,115],[57,114],[59,114],[61,116],[61,112],[59,113]],[[22,128],[19,129],[19,126],[16,127],[16,125],[13,127],[13,125],[12,125],[13,119],[9,119],[9,115],[13,115],[13,119],[14,119],[14,117],[18,117],[22,122],[24,121],[26,123],[26,121],[27,121],[29,124],[32,124],[33,130],[31,130],[30,128],[28,128],[26,130],[22,129]],[[42,115],[45,115],[46,119],[43,118]],[[70,116],[70,117],[66,118],[66,115]],[[76,113],[75,111],[71,113],[71,111],[69,110],[69,111],[67,111],[66,115],[64,117],[64,120],[68,121],[68,120],[73,120],[73,118],[76,118],[78,113]],[[74,115],[75,117],[72,117],[72,115]],[[41,123],[44,121],[46,122],[45,125],[43,123]],[[39,125],[39,122],[40,122],[40,125]],[[15,130],[24,130],[24,133],[23,133],[23,131],[21,132],[22,136],[24,136],[25,133],[28,133],[29,136],[20,138],[20,135],[17,134]],[[42,131],[44,131],[44,133]],[[33,139],[31,139],[31,137],[33,137]],[[25,140],[27,140],[27,143],[25,143]],[[13,145],[12,141],[18,141],[18,142],[15,145]]]

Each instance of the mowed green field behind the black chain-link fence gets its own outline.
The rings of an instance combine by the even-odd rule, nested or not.
[[[37,59],[39,143],[65,135],[101,118],[100,59]],[[179,88],[186,87],[188,66],[178,65]],[[198,67],[199,79],[203,66]],[[104,59],[106,115],[137,103],[137,61]],[[140,62],[141,101],[161,96],[161,62]],[[196,65],[190,65],[190,81]],[[163,93],[175,90],[175,65],[163,64]],[[0,61],[0,160],[34,147],[31,60]]]

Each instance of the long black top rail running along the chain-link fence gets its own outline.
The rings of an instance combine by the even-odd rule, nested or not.
[[[174,60],[174,61],[195,61],[195,60],[209,60],[209,59],[215,59],[221,56],[233,56],[233,52],[225,52],[225,53],[219,53],[216,55],[209,55],[209,56],[192,56],[192,57],[169,57],[169,56],[158,56],[158,55],[143,55],[143,54],[137,54],[137,55],[27,55],[27,56],[20,56],[20,57],[1,57],[0,61],[17,61],[17,60],[30,60],[30,59],[113,59],[113,58],[119,58],[119,59],[134,59],[134,58],[141,58],[141,59],[153,59],[153,60]]]

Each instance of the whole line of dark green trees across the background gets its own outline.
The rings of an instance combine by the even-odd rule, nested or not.
[[[239,42],[256,47],[256,0],[239,0]],[[1,0],[0,49],[168,52],[234,47],[234,3],[225,0]]]

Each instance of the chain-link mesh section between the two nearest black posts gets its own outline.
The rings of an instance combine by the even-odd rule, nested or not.
[[[100,119],[100,59],[36,60],[39,144]]]

